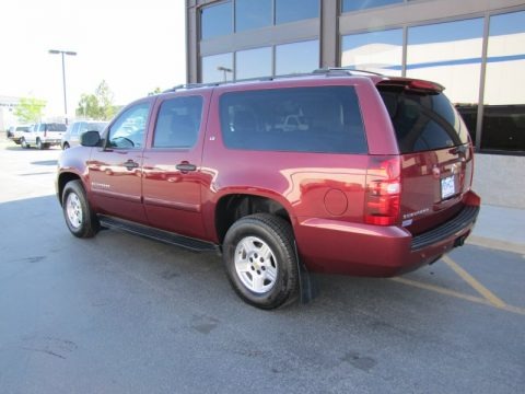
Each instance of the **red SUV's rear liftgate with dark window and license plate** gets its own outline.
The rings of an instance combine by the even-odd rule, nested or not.
[[[413,234],[456,215],[472,177],[472,148],[460,116],[425,81],[378,84],[401,153],[401,219]]]

